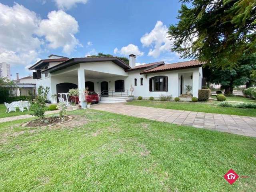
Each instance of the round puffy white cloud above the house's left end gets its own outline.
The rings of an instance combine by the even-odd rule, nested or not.
[[[62,10],[48,13],[48,19],[40,22],[37,34],[45,36],[50,48],[63,47],[63,52],[70,54],[76,46],[82,46],[74,34],[78,32],[78,22]]]

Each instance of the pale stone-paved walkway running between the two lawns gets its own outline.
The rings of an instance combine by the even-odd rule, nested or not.
[[[132,106],[124,103],[97,104],[92,105],[91,108],[178,125],[256,137],[256,117]]]

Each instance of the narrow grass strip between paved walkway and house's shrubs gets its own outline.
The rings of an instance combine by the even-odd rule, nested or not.
[[[240,109],[231,107],[219,107],[212,103],[200,102],[156,102],[148,100],[134,100],[126,103],[127,105],[147,106],[154,108],[187,110],[195,112],[218,113],[241,116],[256,116],[256,109]]]

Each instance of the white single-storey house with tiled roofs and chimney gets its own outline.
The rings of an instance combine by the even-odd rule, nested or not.
[[[29,70],[33,72],[36,87],[48,86],[51,95],[78,88],[80,100],[86,87],[98,92],[102,102],[126,99],[130,87],[135,97],[158,98],[160,94],[183,97],[186,85],[192,86],[191,93],[198,97],[202,84],[202,63],[197,60],[165,64],[163,61],[135,66],[136,56],[129,56],[129,65],[117,57],[66,58],[50,55],[40,60]],[[112,99],[112,100],[111,100]],[[53,101],[53,100],[52,100]],[[120,100],[119,100],[120,101]]]

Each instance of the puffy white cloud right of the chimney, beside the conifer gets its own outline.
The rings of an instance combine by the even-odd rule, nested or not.
[[[156,58],[162,52],[170,51],[172,41],[169,40],[167,32],[166,25],[163,25],[161,21],[157,21],[154,29],[140,38],[140,42],[144,47],[154,46],[154,49],[150,48],[148,56]]]

